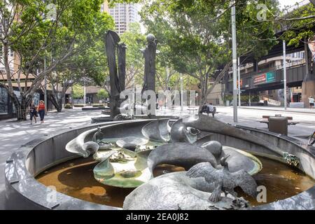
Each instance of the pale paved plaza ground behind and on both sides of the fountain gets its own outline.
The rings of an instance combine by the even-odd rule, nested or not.
[[[196,108],[197,111],[197,108]],[[195,112],[196,112],[195,111]],[[232,107],[218,106],[216,118],[225,123],[235,124],[233,122]],[[190,112],[190,113],[189,113]],[[315,131],[315,110],[309,109],[288,109],[283,111],[280,108],[241,108],[238,110],[239,122],[237,124],[248,127],[255,127],[267,130],[267,125],[259,123],[257,120],[262,116],[274,116],[275,113],[281,113],[282,116],[292,116],[297,125],[288,127],[288,135],[298,138],[304,143],[306,137]],[[176,107],[174,110],[162,109],[157,115],[174,116],[174,115],[192,115],[193,112],[185,107],[183,113],[181,108]],[[92,117],[102,116],[101,111],[81,111],[81,109],[66,110],[62,113],[48,113],[45,123],[29,124],[29,120],[17,122],[15,119],[0,121],[0,170],[4,172],[6,159],[13,151],[18,149],[22,144],[42,137],[43,135],[53,134],[60,130],[69,130],[71,127],[80,127],[91,123]],[[0,209],[4,209],[4,175],[0,175]]]

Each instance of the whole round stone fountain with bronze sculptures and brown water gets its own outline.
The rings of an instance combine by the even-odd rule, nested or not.
[[[295,139],[215,118],[113,121],[22,146],[6,197],[15,209],[314,209],[314,162]]]

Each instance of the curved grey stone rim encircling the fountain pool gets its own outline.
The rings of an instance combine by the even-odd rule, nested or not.
[[[71,131],[61,131],[57,132],[53,135],[43,137],[40,139],[34,139],[29,143],[21,146],[17,151],[10,155],[10,157],[6,160],[5,165],[5,186],[6,186],[6,199],[10,202],[7,204],[9,208],[15,209],[99,209],[99,210],[111,210],[111,209],[121,209],[117,207],[106,206],[102,204],[95,204],[92,202],[83,201],[74,197],[70,197],[68,195],[64,195],[62,193],[56,193],[56,202],[47,202],[44,199],[51,190],[48,187],[43,186],[43,184],[36,181],[31,172],[34,170],[29,170],[32,168],[27,168],[27,166],[34,161],[29,161],[28,156],[31,153],[34,153],[36,147],[40,144],[48,144],[48,141],[52,141],[56,137],[62,137],[62,134],[73,134],[74,132],[84,132],[86,130],[90,130],[93,127],[97,127],[99,125],[109,126],[116,125],[120,123],[144,123],[150,122],[152,120],[126,120],[126,121],[117,121],[117,122],[109,122],[109,123],[101,123],[101,124],[92,124],[87,125],[85,127],[77,127],[75,129],[71,129]],[[259,134],[267,134],[270,137],[276,138],[278,141],[285,141],[290,146],[297,147],[303,153],[306,153],[314,162],[315,155],[307,147],[303,147],[302,143],[297,139],[293,139],[290,137],[284,137],[280,134],[275,134],[272,132],[267,132],[264,130],[258,130],[251,127],[244,127],[236,125],[235,127],[241,128],[243,130],[256,132]],[[293,149],[291,149],[293,151]],[[78,158],[77,156],[69,155],[69,157],[65,158],[63,161],[58,160],[55,161],[55,164],[47,165],[43,169],[47,169],[48,167],[52,167],[53,165],[57,165],[60,162],[65,162],[67,160],[71,160],[73,158]],[[15,172],[14,170],[15,169]],[[16,172],[16,169],[19,169],[19,173]],[[34,169],[34,167],[33,167]],[[42,172],[43,170],[41,170]],[[314,178],[314,176],[313,176]],[[36,195],[34,195],[34,190],[36,189]],[[308,204],[303,204],[302,207],[297,201],[302,200],[307,201]],[[17,208],[16,205],[19,205]],[[285,204],[291,204],[290,207],[285,207]],[[13,207],[13,205],[15,207]],[[305,208],[305,206],[307,206]],[[285,200],[280,200],[277,202],[272,202],[269,204],[264,204],[258,207],[251,207],[251,209],[315,209],[315,186],[306,190],[298,195],[293,197],[289,197]]]

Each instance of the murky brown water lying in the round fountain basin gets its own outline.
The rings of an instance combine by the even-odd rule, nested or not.
[[[259,157],[258,157],[259,158]],[[254,176],[258,186],[266,186],[267,203],[291,197],[314,186],[315,181],[293,167],[279,162],[259,158],[263,169]],[[132,192],[132,188],[115,188],[104,186],[94,179],[93,168],[97,165],[92,158],[78,158],[52,167],[36,179],[45,186],[55,186],[57,191],[81,200],[113,207],[123,207],[125,197]],[[182,167],[160,165],[154,171],[154,176],[166,172],[183,171]],[[261,205],[251,197],[246,197],[237,189],[239,197],[243,196],[251,205]]]

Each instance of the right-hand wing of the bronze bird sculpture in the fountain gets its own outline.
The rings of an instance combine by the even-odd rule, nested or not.
[[[252,197],[257,195],[257,183],[244,169],[232,173],[232,176],[236,185],[239,186],[241,190],[244,190],[244,193]]]

